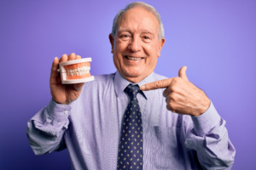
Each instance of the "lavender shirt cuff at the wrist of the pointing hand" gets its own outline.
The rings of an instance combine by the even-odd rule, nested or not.
[[[213,127],[216,127],[221,120],[221,117],[218,115],[214,105],[211,104],[206,112],[201,114],[201,116],[191,116],[194,123],[195,133],[199,136],[204,136],[209,133]]]

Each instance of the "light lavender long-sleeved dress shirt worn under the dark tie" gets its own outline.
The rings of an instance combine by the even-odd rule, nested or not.
[[[165,78],[153,72],[137,84]],[[67,148],[73,169],[116,169],[129,83],[117,71],[84,83],[79,99],[70,105],[51,99],[27,123],[34,153]],[[137,94],[143,114],[143,169],[230,169],[236,150],[212,103],[201,116],[172,113],[163,90]]]

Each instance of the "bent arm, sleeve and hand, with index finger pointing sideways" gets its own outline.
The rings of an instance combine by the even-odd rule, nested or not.
[[[186,67],[179,77],[172,77],[145,84],[142,90],[166,88],[166,108],[169,111],[189,115],[192,122],[187,123],[186,147],[196,150],[198,160],[205,169],[230,169],[234,162],[235,149],[230,143],[225,121],[220,118],[207,95],[189,82]],[[193,156],[190,161],[194,162]]]

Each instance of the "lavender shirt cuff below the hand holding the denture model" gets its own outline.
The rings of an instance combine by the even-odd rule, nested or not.
[[[50,99],[49,105],[47,105],[47,112],[49,116],[58,121],[67,120],[70,111],[71,105],[57,104],[53,99]]]

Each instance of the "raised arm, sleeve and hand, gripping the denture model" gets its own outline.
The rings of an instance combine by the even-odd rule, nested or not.
[[[48,106],[27,122],[26,133],[36,155],[66,148],[63,134],[69,123],[67,117],[71,106],[68,104],[79,98],[84,83],[62,84],[57,70],[59,63],[73,59],[81,59],[81,57],[75,54],[68,56],[63,54],[60,60],[55,57],[49,77],[52,99]]]

